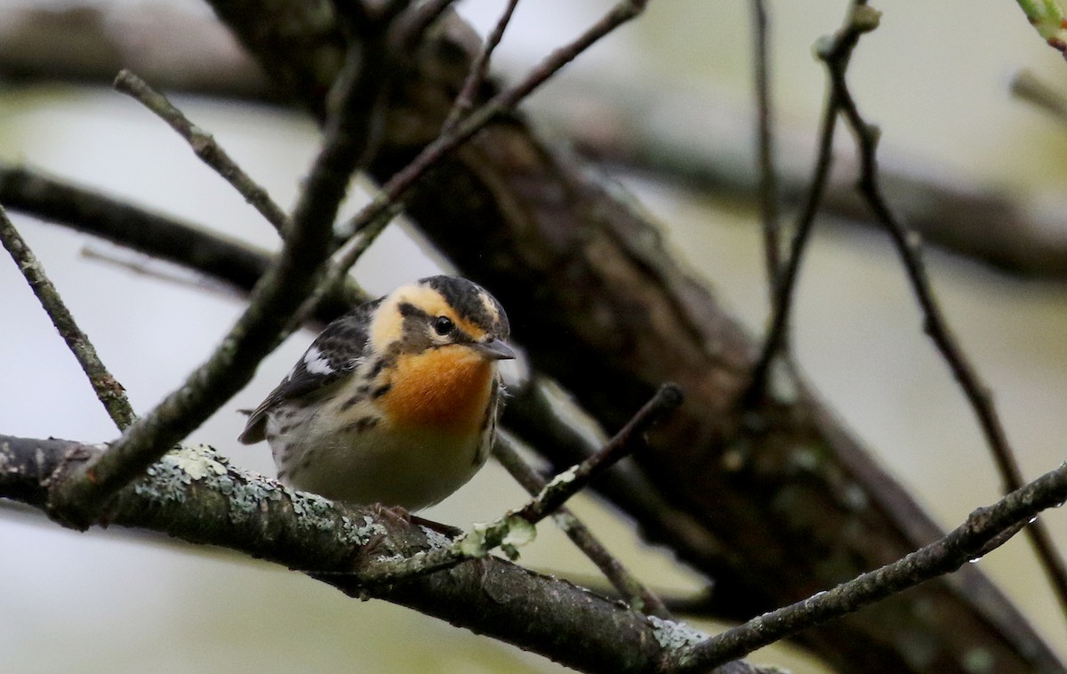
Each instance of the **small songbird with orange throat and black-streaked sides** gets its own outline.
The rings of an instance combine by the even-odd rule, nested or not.
[[[430,276],[363,304],[315,339],[249,416],[284,483],[418,510],[485,463],[500,410],[508,317],[484,288]]]

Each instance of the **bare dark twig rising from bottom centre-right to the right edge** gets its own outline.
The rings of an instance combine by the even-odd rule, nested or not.
[[[1067,499],[1067,464],[1051,470],[992,505],[975,510],[962,525],[907,557],[867,572],[802,601],[764,613],[679,654],[675,672],[702,672],[722,662],[857,611],[919,583],[950,574],[1003,545],[1003,532]],[[1033,526],[1033,525],[1031,525]],[[1028,527],[1029,528],[1029,527]]]

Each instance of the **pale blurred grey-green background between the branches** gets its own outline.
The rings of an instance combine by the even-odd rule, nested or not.
[[[48,3],[50,6],[65,6]],[[118,6],[143,6],[121,3]],[[503,2],[462,0],[482,33]],[[807,174],[824,74],[813,43],[840,26],[844,0],[777,0],[773,19],[776,115],[790,140],[783,166]],[[885,6],[882,6],[885,4]],[[109,6],[116,6],[114,3]],[[522,73],[595,20],[609,2],[537,0],[520,9],[497,51],[497,71]],[[1067,64],[1008,0],[876,3],[880,28],[860,43],[850,83],[882,129],[894,170],[999,190],[1035,212],[1067,212],[1067,130],[1008,94],[1021,68],[1067,92]],[[204,14],[193,0],[169,11]],[[528,110],[550,133],[568,87],[596,83],[605,109],[635,97],[689,101],[679,114],[695,143],[749,171],[753,162],[749,2],[671,0],[583,54]],[[980,47],[981,46],[981,47]],[[588,89],[588,87],[587,87]],[[610,92],[619,98],[612,100]],[[317,130],[297,113],[172,98],[211,131],[282,205],[291,205],[316,149]],[[654,121],[650,121],[652,124]],[[739,131],[737,131],[739,130]],[[735,132],[736,131],[736,132]],[[842,140],[847,140],[842,133]],[[847,149],[847,143],[841,145]],[[0,84],[0,159],[26,162],[131,202],[276,248],[271,228],[186,144],[136,102],[108,89]],[[767,315],[758,213],[736,196],[636,172],[614,179],[663,223],[670,245],[753,332]],[[361,194],[350,198],[348,211]],[[787,216],[790,216],[787,214]],[[139,412],[177,386],[243,306],[224,288],[110,244],[21,218],[15,223]],[[1064,218],[1067,223],[1067,218]],[[1067,229],[1060,232],[1067,237]],[[35,298],[0,259],[0,432],[85,442],[115,431]],[[962,346],[996,394],[1029,478],[1067,459],[1067,285],[1024,279],[928,251],[937,295]],[[394,225],[357,264],[375,292],[439,269],[417,239]],[[822,219],[798,290],[800,365],[848,426],[944,527],[998,497],[973,416],[924,336],[921,317],[887,239]],[[244,417],[284,375],[313,335],[299,333],[268,358],[241,395],[191,437],[234,463],[273,475],[266,445],[237,444]],[[522,335],[515,335],[521,343]],[[488,466],[428,517],[466,527],[523,500]],[[701,579],[641,545],[631,526],[593,499],[579,515],[653,588],[691,592]],[[1048,520],[1067,552],[1067,516]],[[590,564],[552,524],[522,550],[534,568],[589,578]],[[1067,628],[1017,536],[981,561],[1037,629],[1067,657]],[[714,630],[719,626],[697,622]],[[751,657],[796,672],[822,671],[789,648]],[[361,603],[301,574],[222,550],[118,530],[62,530],[36,512],[0,503],[0,671],[3,672],[553,672],[515,648],[381,601]]]

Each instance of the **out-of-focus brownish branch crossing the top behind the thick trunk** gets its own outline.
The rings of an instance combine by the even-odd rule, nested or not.
[[[165,63],[153,59],[153,51],[146,49],[179,35],[180,45],[168,48],[172,60]],[[0,10],[0,74],[6,78],[102,84],[123,66],[168,91],[280,102],[277,90],[257,64],[236,50],[233,36],[217,22],[198,16],[158,7],[122,12],[100,7]],[[685,115],[672,114],[674,110],[714,108],[714,101],[689,93],[646,91],[640,82],[612,87],[602,80],[557,82],[534,107],[538,117],[561,128],[579,149],[603,162],[650,171],[731,197],[757,198],[759,194],[759,174],[729,159],[748,149],[738,145],[744,133],[694,143],[691,139],[706,137],[706,130],[685,128]],[[591,109],[593,114],[588,112]],[[584,112],[575,115],[577,110]],[[720,125],[745,124],[724,118],[726,114],[720,113]],[[596,124],[591,126],[590,119]],[[665,128],[649,124],[650,119],[671,122]],[[680,138],[686,142],[679,143]],[[778,140],[783,160],[782,200],[802,202],[808,176],[784,160],[807,154],[808,147],[785,134]],[[898,195],[902,216],[927,241],[1007,273],[1067,276],[1067,245],[1055,236],[1064,223],[1054,213],[1031,208],[1015,195],[960,180],[914,175],[907,172],[912,163],[902,162],[903,168],[883,172],[882,182]],[[842,159],[835,164],[841,170],[830,178],[826,212],[846,223],[866,223],[870,213],[851,182],[842,179],[849,174],[850,162]]]

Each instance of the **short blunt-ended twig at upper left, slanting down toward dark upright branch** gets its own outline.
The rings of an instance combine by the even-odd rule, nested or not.
[[[156,113],[163,122],[166,122],[172,129],[186,139],[193,153],[232,184],[244,197],[245,202],[267,219],[267,222],[278,231],[285,228],[288,215],[271,199],[267,190],[249,177],[237,165],[237,162],[230,159],[229,155],[216,142],[213,135],[191,123],[180,110],[171,105],[166,96],[156,92],[147,82],[125,68],[120,70],[118,76],[115,77],[114,87],[116,91],[132,97]]]

